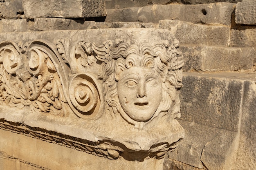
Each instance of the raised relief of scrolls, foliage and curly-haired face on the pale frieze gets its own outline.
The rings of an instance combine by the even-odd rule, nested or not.
[[[164,157],[184,136],[175,119],[184,64],[179,42],[168,31],[124,34],[118,30],[104,42],[2,42],[1,104],[83,122],[97,132],[95,141],[71,143],[86,146],[85,152],[139,161]],[[60,136],[53,141],[70,143]],[[132,152],[140,156],[131,158]]]

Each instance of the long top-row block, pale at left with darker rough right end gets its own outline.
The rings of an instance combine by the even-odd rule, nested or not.
[[[23,0],[27,18],[89,18],[106,16],[104,0]]]

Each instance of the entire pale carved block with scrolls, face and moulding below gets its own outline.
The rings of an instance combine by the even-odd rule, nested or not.
[[[160,170],[166,152],[184,138],[176,120],[184,61],[171,31],[37,31],[0,33],[0,39],[0,128],[22,136],[0,135],[7,155],[49,169],[67,157],[74,159],[63,167],[81,169],[92,157],[76,161],[92,154],[104,159],[95,159],[101,163],[95,169],[120,168],[125,160],[122,169]],[[39,159],[37,146],[40,158],[52,153],[54,159]]]

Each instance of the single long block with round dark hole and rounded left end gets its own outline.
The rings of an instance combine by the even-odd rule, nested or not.
[[[200,24],[230,25],[234,5],[232,3],[211,3],[146,6],[139,10],[138,21],[158,23],[159,20],[181,20]]]

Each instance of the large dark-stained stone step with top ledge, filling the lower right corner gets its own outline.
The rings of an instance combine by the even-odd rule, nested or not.
[[[256,167],[256,73],[184,73],[180,124],[186,137],[171,159],[209,170]]]

